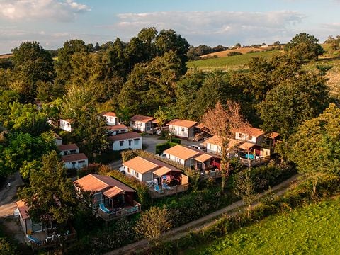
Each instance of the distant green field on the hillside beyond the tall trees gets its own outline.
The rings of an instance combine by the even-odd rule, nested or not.
[[[251,60],[251,57],[271,57],[273,54],[279,52],[278,50],[271,50],[266,52],[246,53],[243,55],[231,57],[217,57],[206,60],[196,60],[187,62],[188,68],[197,67],[198,69],[242,69],[246,63]]]

